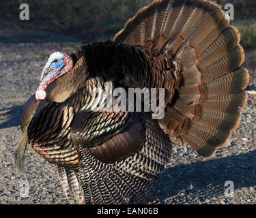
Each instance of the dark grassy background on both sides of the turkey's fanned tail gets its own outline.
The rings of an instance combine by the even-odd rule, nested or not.
[[[241,44],[246,51],[245,65],[256,75],[256,1],[216,0],[221,5],[233,3],[235,20],[231,22],[241,33]],[[63,31],[87,41],[111,39],[124,27],[128,18],[152,0],[27,0],[30,20],[20,22],[23,28]],[[18,20],[17,8],[22,0],[3,3],[0,16]],[[0,8],[0,12],[1,12]],[[31,25],[31,26],[29,26]],[[256,78],[256,76],[252,76]],[[256,80],[256,79],[255,79]]]

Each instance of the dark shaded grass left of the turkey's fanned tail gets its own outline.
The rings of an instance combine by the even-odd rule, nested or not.
[[[122,29],[128,18],[152,0],[27,0],[29,22],[37,28],[69,31],[79,35],[94,35],[97,39],[111,38]],[[20,0],[5,3],[8,16],[16,18]]]

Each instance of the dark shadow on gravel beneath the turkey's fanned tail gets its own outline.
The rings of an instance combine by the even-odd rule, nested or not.
[[[227,181],[233,182],[235,195],[236,189],[256,186],[256,151],[168,168],[156,186],[156,197],[164,204],[166,199],[193,204],[225,198]]]

